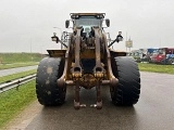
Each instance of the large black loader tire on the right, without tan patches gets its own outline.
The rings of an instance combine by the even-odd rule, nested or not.
[[[119,56],[112,60],[112,72],[119,78],[119,84],[111,87],[111,99],[115,105],[133,105],[140,94],[140,74],[134,58]]]

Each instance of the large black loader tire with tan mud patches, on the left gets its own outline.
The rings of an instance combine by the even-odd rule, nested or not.
[[[64,103],[66,87],[57,83],[63,68],[64,61],[60,57],[45,57],[40,61],[36,76],[36,94],[40,104],[55,106]]]

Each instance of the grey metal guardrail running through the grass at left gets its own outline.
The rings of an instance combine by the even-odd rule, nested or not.
[[[5,92],[5,91],[13,89],[13,88],[17,88],[21,84],[26,83],[35,78],[36,78],[36,74],[15,79],[11,82],[1,83],[0,84],[0,93]]]

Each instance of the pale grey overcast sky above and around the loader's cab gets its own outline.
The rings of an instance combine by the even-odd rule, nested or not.
[[[0,0],[0,52],[59,49],[50,37],[54,31],[58,36],[61,30],[72,31],[64,23],[74,12],[105,13],[111,38],[123,32],[116,50],[126,50],[126,34],[133,40],[132,50],[174,48],[174,0]]]

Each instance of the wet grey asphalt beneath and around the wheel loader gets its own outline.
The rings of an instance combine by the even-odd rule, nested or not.
[[[95,89],[82,90],[82,103],[86,103],[87,107],[75,110],[73,89],[69,87],[64,105],[44,107],[36,103],[35,110],[28,112],[28,115],[35,116],[30,118],[25,129],[174,130],[174,75],[156,73],[140,73],[140,75],[141,94],[139,102],[133,107],[114,106],[105,87],[102,88],[101,110],[89,107],[95,102]]]

